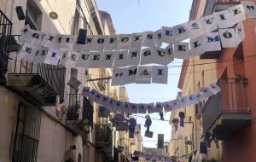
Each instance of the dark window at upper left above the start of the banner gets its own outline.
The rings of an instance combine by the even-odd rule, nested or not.
[[[25,25],[27,24],[34,30],[41,30],[42,12],[33,0],[28,0],[26,3]]]

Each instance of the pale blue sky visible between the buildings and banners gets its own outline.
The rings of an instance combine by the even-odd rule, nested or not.
[[[96,0],[98,9],[111,14],[116,34],[157,31],[161,26],[176,26],[189,20],[192,0]],[[168,84],[128,84],[129,100],[134,103],[170,101],[176,98],[182,60],[175,60],[168,66]],[[170,119],[171,113],[165,113]],[[140,116],[140,117],[138,117]],[[165,142],[171,139],[172,126],[160,119],[158,113],[150,114],[153,138],[144,137],[144,114],[135,114],[137,124],[142,124],[143,147],[156,148],[157,134],[164,134]]]

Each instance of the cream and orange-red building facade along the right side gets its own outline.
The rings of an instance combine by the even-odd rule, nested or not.
[[[194,0],[190,20],[200,19],[240,2]],[[170,142],[171,154],[179,157],[180,161],[255,159],[253,150],[256,145],[251,136],[255,132],[255,75],[252,69],[255,64],[253,41],[256,37],[253,20],[247,18],[243,25],[246,38],[237,48],[222,49],[221,53],[204,54],[183,61],[178,84],[182,95],[195,93],[212,83],[218,84],[222,91],[195,106],[173,111],[170,124],[172,119],[179,118],[180,111],[185,113],[186,120],[184,127],[177,125],[177,131],[172,134],[173,142]],[[207,148],[207,152],[201,153],[202,148]]]

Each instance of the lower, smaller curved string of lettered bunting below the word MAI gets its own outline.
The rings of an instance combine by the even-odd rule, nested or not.
[[[192,95],[186,95],[179,97],[176,100],[166,101],[166,102],[156,102],[154,103],[131,103],[127,101],[117,101],[113,98],[102,95],[95,89],[90,90],[90,87],[83,87],[82,95],[87,96],[90,100],[101,104],[103,107],[115,112],[125,112],[125,113],[162,113],[171,112],[174,109],[187,107],[189,105],[195,104],[198,101],[204,100],[207,97],[218,94],[221,89],[217,84],[210,84],[207,87],[201,88],[197,93]]]

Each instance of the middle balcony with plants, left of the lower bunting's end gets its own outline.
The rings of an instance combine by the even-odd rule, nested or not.
[[[93,124],[93,106],[81,94],[67,94],[69,104],[66,113],[66,125],[77,135],[87,138],[90,126]]]

